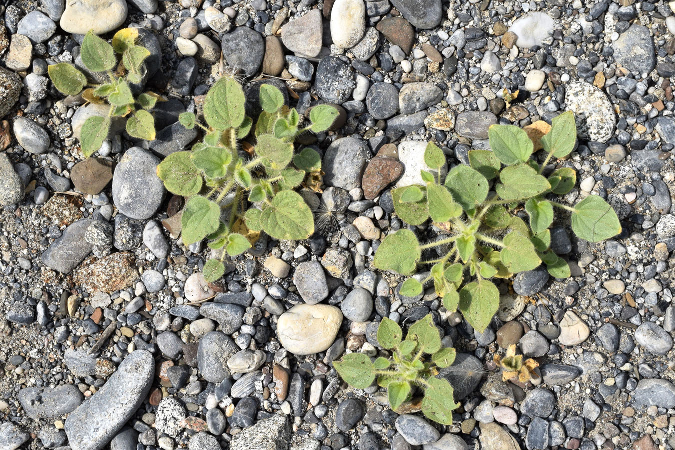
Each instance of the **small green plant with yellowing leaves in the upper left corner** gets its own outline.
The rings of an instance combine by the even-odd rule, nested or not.
[[[70,63],[58,63],[47,67],[49,78],[55,88],[65,95],[77,95],[90,103],[110,105],[107,117],[88,117],[82,125],[80,144],[82,153],[89,157],[101,148],[107,138],[113,117],[128,117],[126,131],[139,139],[155,139],[155,118],[148,111],[161,97],[153,92],[134,96],[132,84],[140,84],[143,77],[143,61],[150,56],[145,47],[136,45],[138,30],[124,28],[113,36],[110,45],[89,31],[84,35],[80,55],[82,63],[91,72],[105,72],[109,82],[88,84],[86,76]],[[121,64],[117,63],[117,56]],[[115,72],[113,72],[115,69]],[[91,86],[84,89],[86,86]],[[84,89],[84,90],[83,90]]]

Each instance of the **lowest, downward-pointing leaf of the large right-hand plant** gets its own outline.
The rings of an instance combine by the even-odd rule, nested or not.
[[[472,281],[460,291],[459,309],[479,333],[483,333],[499,308],[499,289],[485,279]]]

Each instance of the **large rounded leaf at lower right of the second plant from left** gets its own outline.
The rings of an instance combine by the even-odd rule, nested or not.
[[[276,240],[307,239],[314,233],[314,217],[302,196],[281,191],[265,206],[261,215],[265,233]]]

